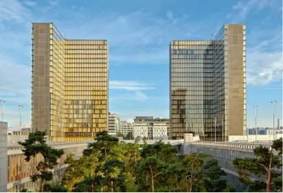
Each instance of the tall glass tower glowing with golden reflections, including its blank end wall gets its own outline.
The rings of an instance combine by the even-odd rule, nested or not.
[[[84,141],[108,128],[109,49],[32,23],[32,129],[53,141]]]

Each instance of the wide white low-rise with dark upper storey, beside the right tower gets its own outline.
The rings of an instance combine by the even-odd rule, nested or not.
[[[168,139],[170,122],[164,118],[135,117],[133,137]]]

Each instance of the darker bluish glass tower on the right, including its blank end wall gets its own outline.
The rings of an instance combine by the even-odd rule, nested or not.
[[[245,25],[225,24],[210,41],[170,43],[170,138],[244,135]]]

